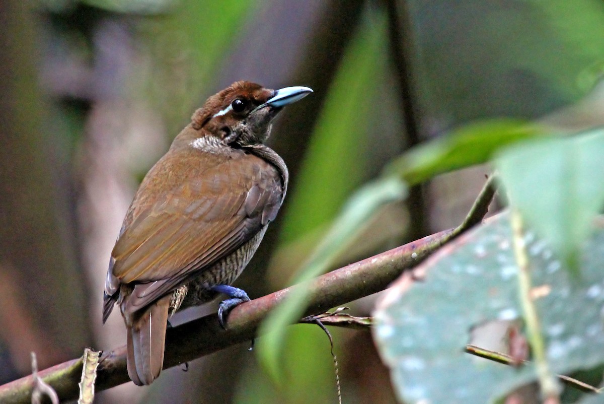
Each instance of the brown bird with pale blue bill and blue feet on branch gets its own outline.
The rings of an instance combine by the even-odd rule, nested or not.
[[[177,310],[220,294],[218,319],[248,295],[231,284],[254,255],[288,189],[288,168],[265,145],[284,106],[312,93],[239,81],[211,96],[147,172],[111,252],[103,324],[115,304],[127,331],[127,371],[149,385],[164,362]]]

